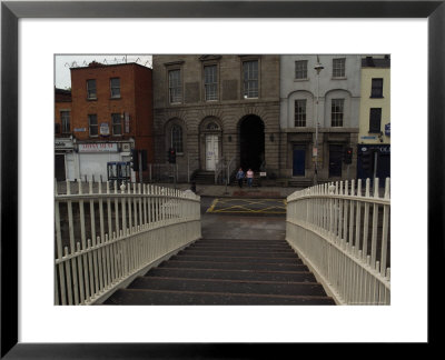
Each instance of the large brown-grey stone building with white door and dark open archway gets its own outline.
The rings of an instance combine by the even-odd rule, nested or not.
[[[241,166],[279,169],[279,56],[152,57],[156,161],[179,178]]]

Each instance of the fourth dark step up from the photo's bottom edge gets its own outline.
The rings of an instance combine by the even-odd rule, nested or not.
[[[304,264],[268,263],[268,262],[246,263],[246,262],[184,261],[184,260],[164,261],[162,263],[159,264],[159,268],[307,271],[307,267]]]

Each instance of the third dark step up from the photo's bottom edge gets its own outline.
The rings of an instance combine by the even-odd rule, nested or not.
[[[315,282],[315,276],[309,271],[266,271],[266,270],[228,270],[228,269],[184,269],[184,268],[155,268],[146,277],[171,277],[187,279],[221,279],[246,281],[293,281]]]

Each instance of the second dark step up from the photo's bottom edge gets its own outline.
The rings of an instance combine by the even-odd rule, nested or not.
[[[221,292],[244,294],[317,296],[326,292],[316,282],[276,282],[245,280],[202,280],[185,278],[139,277],[127,289]]]

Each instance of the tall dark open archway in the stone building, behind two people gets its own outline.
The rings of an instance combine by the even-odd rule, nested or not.
[[[258,171],[265,160],[265,133],[263,120],[247,116],[239,126],[239,159],[243,169]]]

